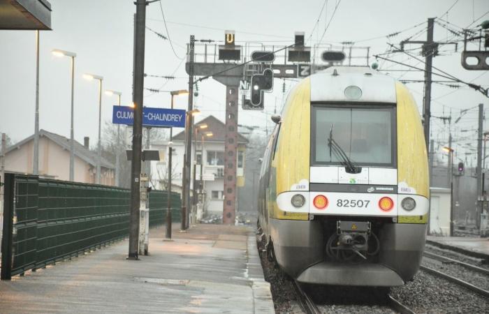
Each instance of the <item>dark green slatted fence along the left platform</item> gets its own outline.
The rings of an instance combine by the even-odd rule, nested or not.
[[[113,186],[6,174],[1,278],[67,257],[129,234],[130,191]],[[180,195],[172,194],[180,221]],[[149,193],[149,225],[166,223],[167,193]]]

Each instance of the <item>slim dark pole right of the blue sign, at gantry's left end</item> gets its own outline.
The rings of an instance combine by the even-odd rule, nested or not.
[[[194,52],[195,52],[195,36],[190,36],[189,43],[189,105],[187,108],[187,125],[185,126],[185,160],[183,169],[183,190],[182,190],[182,230],[189,227],[189,208],[190,208],[190,173],[191,173],[191,154],[192,154],[192,133],[194,118],[192,110],[194,107]]]

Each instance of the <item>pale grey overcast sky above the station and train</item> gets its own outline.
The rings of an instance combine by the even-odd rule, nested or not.
[[[75,140],[82,142],[84,136],[96,143],[98,128],[98,86],[82,78],[83,73],[103,76],[103,89],[122,91],[122,104],[131,102],[133,67],[133,0],[49,0],[52,4],[52,31],[41,31],[41,75],[40,75],[40,126],[50,132],[69,137],[70,134],[70,65],[68,58],[53,57],[51,50],[58,48],[75,52]],[[187,89],[188,76],[184,70],[185,45],[189,35],[198,39],[223,40],[224,30],[235,30],[236,41],[265,42],[270,45],[289,45],[295,31],[305,31],[311,36],[310,45],[324,34],[323,43],[353,41],[355,46],[370,46],[371,53],[383,53],[387,42],[399,43],[418,33],[417,40],[425,40],[428,17],[442,17],[452,29],[474,27],[489,20],[489,1],[486,0],[282,0],[282,1],[230,1],[230,0],[187,0],[161,1],[166,17],[173,53],[168,40],[162,40],[151,31],[146,31],[145,73],[149,75],[175,75],[175,80],[147,77],[145,87],[156,89]],[[304,3],[307,3],[305,5]],[[453,5],[455,3],[455,5]],[[336,12],[333,16],[333,12]],[[448,13],[446,11],[450,8]],[[333,18],[332,18],[333,17]],[[480,20],[477,20],[480,18]],[[319,20],[319,22],[317,22]],[[474,20],[477,20],[474,23]],[[316,23],[317,22],[317,23]],[[421,26],[412,28],[417,24]],[[165,36],[159,3],[147,6],[147,27]],[[312,30],[314,32],[311,34]],[[386,35],[406,30],[397,36]],[[375,38],[375,39],[371,39]],[[450,41],[452,33],[435,24],[435,40]],[[35,33],[34,31],[0,31],[0,131],[19,141],[34,133],[35,108]],[[412,45],[407,48],[416,48]],[[435,57],[437,68],[465,81],[489,84],[487,71],[468,71],[460,65],[462,43],[455,52],[453,45],[440,47],[440,56]],[[416,51],[418,52],[418,50]],[[402,53],[388,58],[405,61],[423,67],[423,63],[410,59]],[[370,58],[372,63],[374,57]],[[379,62],[381,69],[404,70],[403,66]],[[391,72],[393,77],[423,80],[420,72]],[[437,77],[433,77],[437,79]],[[439,79],[444,80],[444,79]],[[265,113],[240,110],[239,123],[249,126],[268,124],[270,114],[280,110],[282,103],[282,80],[275,80],[275,90],[265,98]],[[286,92],[295,84],[286,80]],[[422,106],[422,84],[409,84],[418,106]],[[203,117],[213,114],[224,120],[224,86],[213,80],[199,84],[199,96],[195,98]],[[452,112],[458,117],[461,109],[479,103],[489,105],[488,98],[468,87],[453,89],[433,84],[432,114],[443,116]],[[103,121],[111,120],[115,97],[103,95]],[[146,106],[169,107],[168,93],[152,94],[145,91]],[[176,107],[184,109],[187,97],[180,97]],[[476,128],[477,111],[470,110],[453,128],[455,136],[476,142],[475,133],[460,130]],[[441,144],[448,138],[448,128],[439,119],[432,120],[435,140]],[[460,144],[461,142],[459,142]]]

